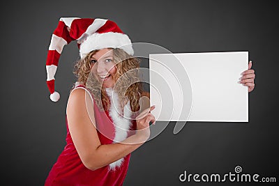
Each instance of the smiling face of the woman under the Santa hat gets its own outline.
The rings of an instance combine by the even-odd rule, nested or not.
[[[110,88],[114,86],[116,66],[112,49],[100,49],[91,56],[91,70],[102,86]]]

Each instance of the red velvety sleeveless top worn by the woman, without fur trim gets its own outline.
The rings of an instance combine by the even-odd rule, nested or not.
[[[100,131],[105,132],[104,134],[97,130],[100,143],[112,144],[114,142],[112,139],[114,139],[114,135],[116,135],[116,130],[109,112],[100,111],[97,104],[94,102],[94,113],[98,129],[100,128]],[[133,122],[133,126],[135,126],[135,122]],[[130,154],[123,157],[121,166],[116,166],[113,170],[110,169],[110,165],[107,165],[91,171],[82,164],[82,160],[80,160],[80,156],[77,154],[68,129],[67,118],[66,127],[66,146],[61,155],[59,155],[54,166],[52,166],[45,180],[45,186],[123,185],[128,171]]]

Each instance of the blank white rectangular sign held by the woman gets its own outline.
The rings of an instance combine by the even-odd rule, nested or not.
[[[248,122],[248,88],[238,83],[247,69],[248,52],[150,54],[152,113],[157,121]]]

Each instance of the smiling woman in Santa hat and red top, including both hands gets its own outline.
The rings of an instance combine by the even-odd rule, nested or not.
[[[77,40],[80,61],[75,65],[77,84],[66,109],[67,145],[45,185],[123,185],[130,153],[149,139],[150,111],[139,114],[144,93],[138,82],[138,59],[130,39],[110,20],[61,18],[47,55],[50,98],[63,46]],[[242,83],[254,88],[255,73],[243,72]]]

